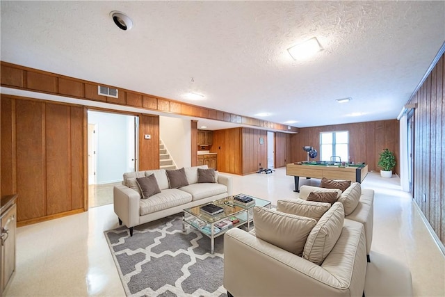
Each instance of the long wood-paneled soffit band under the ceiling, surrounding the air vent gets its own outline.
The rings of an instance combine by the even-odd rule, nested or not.
[[[188,115],[197,118],[207,118],[210,120],[219,120],[223,122],[233,122],[256,127],[266,127],[281,131],[298,132],[298,128],[288,125],[282,125],[266,120],[246,117],[234,113],[226,113],[215,109],[207,109],[202,106],[178,102],[172,99],[157,97],[154,95],[138,93],[132,90],[126,90],[117,86],[108,86],[117,88],[118,98],[106,97],[97,94],[97,86],[107,86],[103,83],[84,81],[74,77],[65,77],[60,74],[36,70],[30,67],[15,65],[12,63],[1,62],[1,86],[8,88],[18,88],[21,90],[31,90],[39,93],[62,95],[65,97],[74,97],[92,101],[107,102],[111,104],[138,107],[165,113],[177,113],[179,115]]]

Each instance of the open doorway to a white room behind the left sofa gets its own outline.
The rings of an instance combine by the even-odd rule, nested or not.
[[[124,172],[138,170],[138,120],[134,115],[88,111],[88,207],[113,203]]]

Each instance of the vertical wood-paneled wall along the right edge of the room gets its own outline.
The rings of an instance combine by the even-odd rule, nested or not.
[[[444,55],[410,99],[414,109],[412,193],[437,236],[445,244],[445,63]]]

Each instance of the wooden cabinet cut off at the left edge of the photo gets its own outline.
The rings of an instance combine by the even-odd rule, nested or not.
[[[17,226],[17,195],[1,197],[0,214],[0,296],[15,272],[15,229]]]

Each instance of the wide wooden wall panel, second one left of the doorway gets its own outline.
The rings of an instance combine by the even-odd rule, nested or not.
[[[47,215],[71,210],[70,106],[45,104]]]

